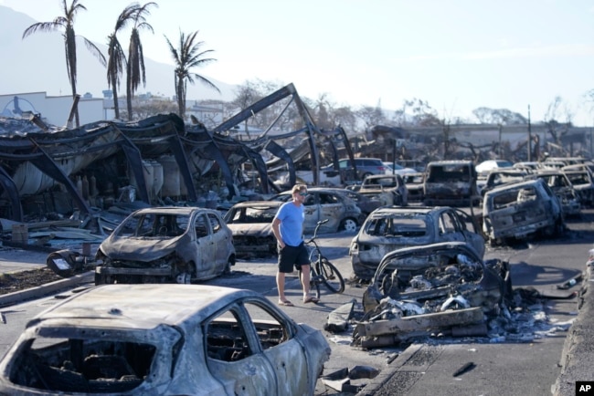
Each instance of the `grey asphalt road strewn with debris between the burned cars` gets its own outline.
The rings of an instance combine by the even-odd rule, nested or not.
[[[536,287],[553,293],[568,278],[584,270],[588,251],[594,241],[592,223],[594,211],[585,211],[581,219],[569,219],[570,231],[557,240],[534,241],[513,247],[488,248],[486,258],[503,258],[510,262],[514,288]],[[329,256],[345,278],[352,275],[347,246],[353,234],[325,234],[320,239],[324,254]],[[275,258],[239,261],[232,276],[209,281],[229,287],[248,287],[277,300]],[[576,286],[576,289],[579,285]],[[355,299],[358,305],[363,287],[348,284],[345,293],[325,293],[318,305],[302,304],[301,287],[296,274],[287,277],[287,297],[295,307],[282,307],[292,318],[315,328],[324,328],[327,317],[335,308]],[[571,290],[570,290],[571,291]],[[0,353],[16,339],[27,318],[54,304],[57,298],[44,297],[27,303],[0,309]],[[537,310],[538,307],[535,307]],[[351,380],[360,394],[374,395],[543,395],[550,394],[557,380],[559,360],[567,327],[576,318],[576,299],[546,299],[542,307],[548,329],[525,342],[489,342],[484,339],[426,339],[411,346],[362,350],[350,346],[352,328],[344,333],[324,331],[333,353],[325,365],[325,373],[355,366],[380,370],[377,378]],[[553,325],[557,324],[557,328]],[[552,328],[552,329],[551,329]],[[462,367],[469,370],[454,377]],[[366,385],[366,386],[365,386]],[[316,394],[338,395],[320,382]]]

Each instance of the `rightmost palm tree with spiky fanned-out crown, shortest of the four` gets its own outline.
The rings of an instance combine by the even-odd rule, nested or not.
[[[175,48],[165,36],[165,40],[167,40],[167,45],[171,51],[171,56],[175,61],[175,96],[177,97],[179,116],[182,118],[182,120],[184,120],[186,115],[186,89],[188,82],[194,84],[194,78],[196,78],[200,82],[206,84],[208,87],[217,89],[217,92],[220,93],[220,89],[218,89],[217,86],[210,82],[207,78],[190,72],[191,68],[198,68],[217,60],[212,57],[205,57],[207,53],[213,52],[212,49],[200,51],[200,47],[202,47],[204,41],[198,41],[195,43],[194,40],[196,40],[197,34],[198,31],[196,30],[196,32],[186,37],[186,35],[180,31],[179,47],[177,48]]]

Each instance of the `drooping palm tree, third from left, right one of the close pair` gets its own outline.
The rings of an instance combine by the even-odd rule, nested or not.
[[[149,7],[159,6],[154,2],[138,6],[133,13],[134,26],[130,35],[130,45],[128,47],[128,65],[126,67],[126,96],[128,102],[128,120],[132,120],[132,97],[141,81],[146,85],[146,76],[144,74],[144,55],[143,43],[140,41],[140,30],[148,29],[154,32],[153,26],[146,22],[146,17],[151,14]]]

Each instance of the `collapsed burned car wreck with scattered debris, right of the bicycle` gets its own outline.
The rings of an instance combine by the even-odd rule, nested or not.
[[[567,290],[565,284],[559,289]],[[483,262],[460,243],[434,244],[387,254],[366,289],[363,310],[355,303],[340,307],[324,328],[352,331],[351,346],[361,349],[471,338],[531,342],[571,325],[549,322],[546,299],[575,296],[571,290],[513,289],[507,262]]]

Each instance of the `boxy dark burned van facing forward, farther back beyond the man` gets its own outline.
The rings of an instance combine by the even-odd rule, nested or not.
[[[423,182],[426,206],[460,206],[480,200],[472,161],[435,161],[427,164]]]

